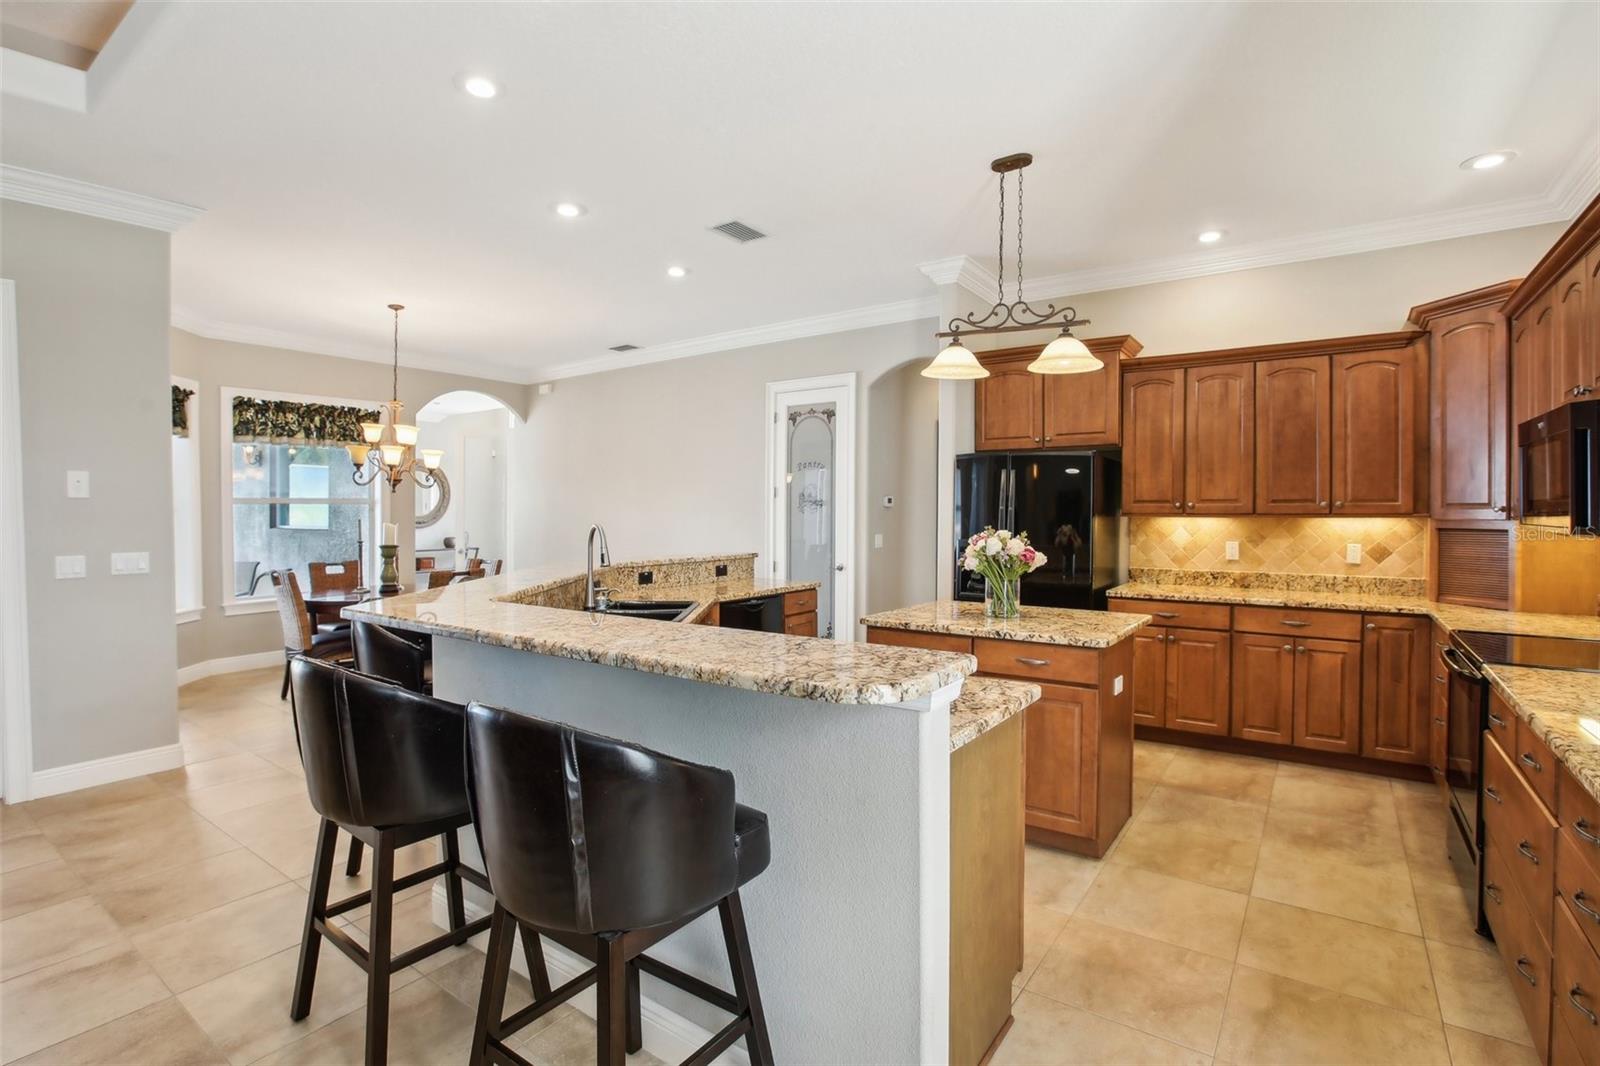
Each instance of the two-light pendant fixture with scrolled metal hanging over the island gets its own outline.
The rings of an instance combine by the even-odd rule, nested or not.
[[[1034,311],[1022,299],[1022,170],[1034,162],[1027,152],[1005,155],[989,163],[989,170],[1000,174],[1000,277],[998,299],[982,319],[976,312],[950,319],[949,328],[934,333],[938,338],[950,338],[949,346],[939,352],[931,363],[923,367],[923,378],[942,378],[949,381],[970,381],[987,378],[989,370],[978,362],[965,344],[963,330],[968,336],[989,336],[994,333],[1022,333],[1030,330],[1046,330],[1061,327],[1061,333],[1045,351],[1038,354],[1027,368],[1035,375],[1082,375],[1099,370],[1104,363],[1094,357],[1083,341],[1072,336],[1072,327],[1088,325],[1088,319],[1078,319],[1075,307],[1056,311],[1054,304],[1043,311]],[[1005,299],[1005,176],[1016,171],[1016,299]]]

